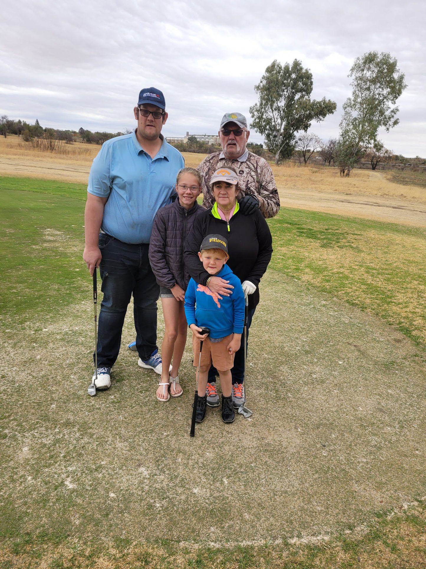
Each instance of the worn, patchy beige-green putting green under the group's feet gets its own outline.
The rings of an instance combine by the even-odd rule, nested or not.
[[[262,289],[253,417],[225,426],[209,409],[195,439],[189,345],[185,394],[157,403],[158,376],[124,348],[127,318],[112,387],[90,398],[90,300],[6,327],[1,532],[255,544],[328,537],[423,496],[425,365],[410,340],[274,271]]]

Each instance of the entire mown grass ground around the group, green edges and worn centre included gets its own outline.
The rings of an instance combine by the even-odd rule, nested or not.
[[[190,341],[183,396],[158,403],[131,310],[111,389],[87,395],[83,189],[0,180],[0,569],[426,563],[424,231],[270,220],[253,416],[209,409],[191,439]]]

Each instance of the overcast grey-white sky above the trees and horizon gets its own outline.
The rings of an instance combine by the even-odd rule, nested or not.
[[[312,97],[337,102],[311,130],[336,136],[348,72],[389,51],[408,88],[385,145],[426,157],[424,0],[6,0],[0,21],[0,114],[78,130],[133,127],[139,90],[164,92],[166,136],[211,134],[225,112],[249,119],[253,86],[274,59],[300,59]],[[252,141],[262,137],[252,131]]]

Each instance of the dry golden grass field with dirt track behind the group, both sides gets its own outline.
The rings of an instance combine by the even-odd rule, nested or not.
[[[98,145],[74,143],[66,154],[32,149],[17,136],[0,138],[0,175],[86,183]],[[187,166],[196,167],[204,154],[185,153]],[[416,185],[388,180],[381,172],[354,170],[340,178],[337,168],[272,164],[281,204],[309,209],[426,226],[426,191]]]

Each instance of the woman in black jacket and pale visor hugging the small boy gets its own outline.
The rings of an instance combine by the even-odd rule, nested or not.
[[[219,277],[211,277],[203,269],[198,251],[203,238],[211,233],[223,235],[228,241],[228,265],[240,279],[244,294],[248,296],[248,328],[259,303],[259,283],[265,274],[272,255],[272,236],[269,226],[260,210],[252,215],[242,215],[239,211],[238,178],[232,168],[216,170],[210,180],[215,197],[211,209],[201,213],[193,224],[185,249],[185,266],[195,282],[208,286],[219,295],[232,294],[232,287]],[[220,298],[220,296],[219,296]],[[235,354],[232,368],[232,402],[234,407],[244,403],[244,344]],[[216,370],[210,368],[207,384],[207,405],[219,405],[216,391]]]

